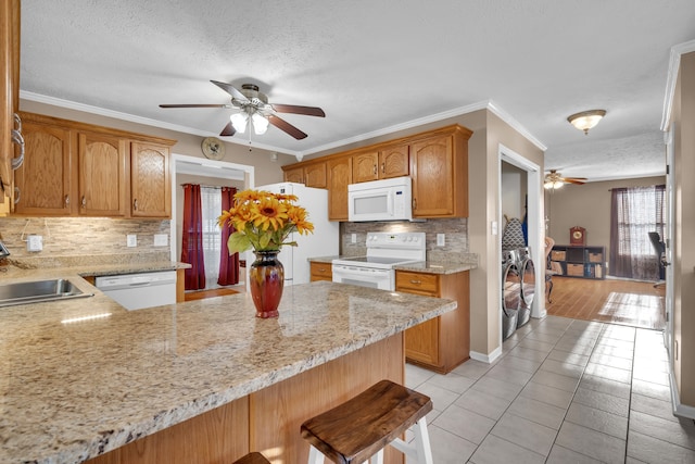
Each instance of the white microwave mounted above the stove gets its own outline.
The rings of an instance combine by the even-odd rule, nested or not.
[[[349,185],[348,221],[413,221],[410,178],[394,177]]]

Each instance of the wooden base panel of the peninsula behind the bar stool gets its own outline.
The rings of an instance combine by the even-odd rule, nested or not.
[[[305,463],[304,421],[389,379],[405,381],[403,333],[97,456],[89,464],[231,463],[260,451],[271,463]],[[384,463],[403,464],[387,448]]]

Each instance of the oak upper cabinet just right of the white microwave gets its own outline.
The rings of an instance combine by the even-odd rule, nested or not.
[[[468,138],[460,126],[410,145],[414,217],[468,216]]]

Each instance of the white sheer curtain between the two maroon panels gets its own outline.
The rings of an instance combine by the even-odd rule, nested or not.
[[[220,229],[217,217],[222,213],[222,195],[219,188],[200,188],[203,210],[203,254],[205,260],[205,288],[217,288],[219,276]]]

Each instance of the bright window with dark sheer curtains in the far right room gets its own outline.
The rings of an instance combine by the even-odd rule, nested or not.
[[[612,189],[610,274],[616,277],[655,280],[659,259],[649,233],[664,237],[665,186]]]

